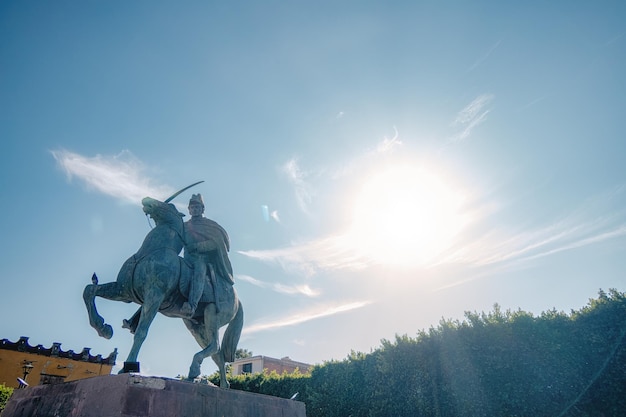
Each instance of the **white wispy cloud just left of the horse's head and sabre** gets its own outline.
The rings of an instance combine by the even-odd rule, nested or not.
[[[88,188],[125,203],[138,204],[146,196],[165,197],[174,192],[169,187],[152,184],[143,175],[143,164],[129,151],[93,157],[63,149],[50,153],[69,180],[78,178]]]

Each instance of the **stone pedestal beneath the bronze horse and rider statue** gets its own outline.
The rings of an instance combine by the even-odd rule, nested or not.
[[[15,390],[2,417],[306,417],[304,403],[135,374]]]

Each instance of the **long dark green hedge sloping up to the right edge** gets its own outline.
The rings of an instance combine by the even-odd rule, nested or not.
[[[289,398],[309,417],[618,416],[626,410],[626,295],[600,291],[569,314],[467,312],[415,337],[308,375],[231,377],[235,389]]]

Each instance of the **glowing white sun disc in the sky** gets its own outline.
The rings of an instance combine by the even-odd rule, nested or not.
[[[424,169],[395,166],[365,180],[349,233],[363,256],[385,265],[424,265],[465,224],[462,195]]]

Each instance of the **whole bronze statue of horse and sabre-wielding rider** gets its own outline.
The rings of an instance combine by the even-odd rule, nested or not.
[[[202,181],[200,181],[202,182]],[[150,197],[142,200],[143,211],[155,226],[141,247],[122,265],[115,282],[98,284],[94,273],[83,299],[89,323],[106,339],[113,328],[98,314],[95,298],[137,303],[141,307],[123,327],[134,334],[126,362],[137,362],[150,324],[157,313],[183,320],[202,350],[193,356],[187,380],[200,375],[202,361],[211,356],[220,373],[220,387],[228,388],[225,364],[235,359],[243,328],[243,307],[233,288],[233,271],[228,259],[230,242],[226,231],[203,216],[200,194],[189,201],[191,219],[170,203],[195,183],[161,202]],[[184,258],[180,257],[185,248]],[[219,330],[227,325],[222,343]],[[124,370],[120,371],[124,372]]]

